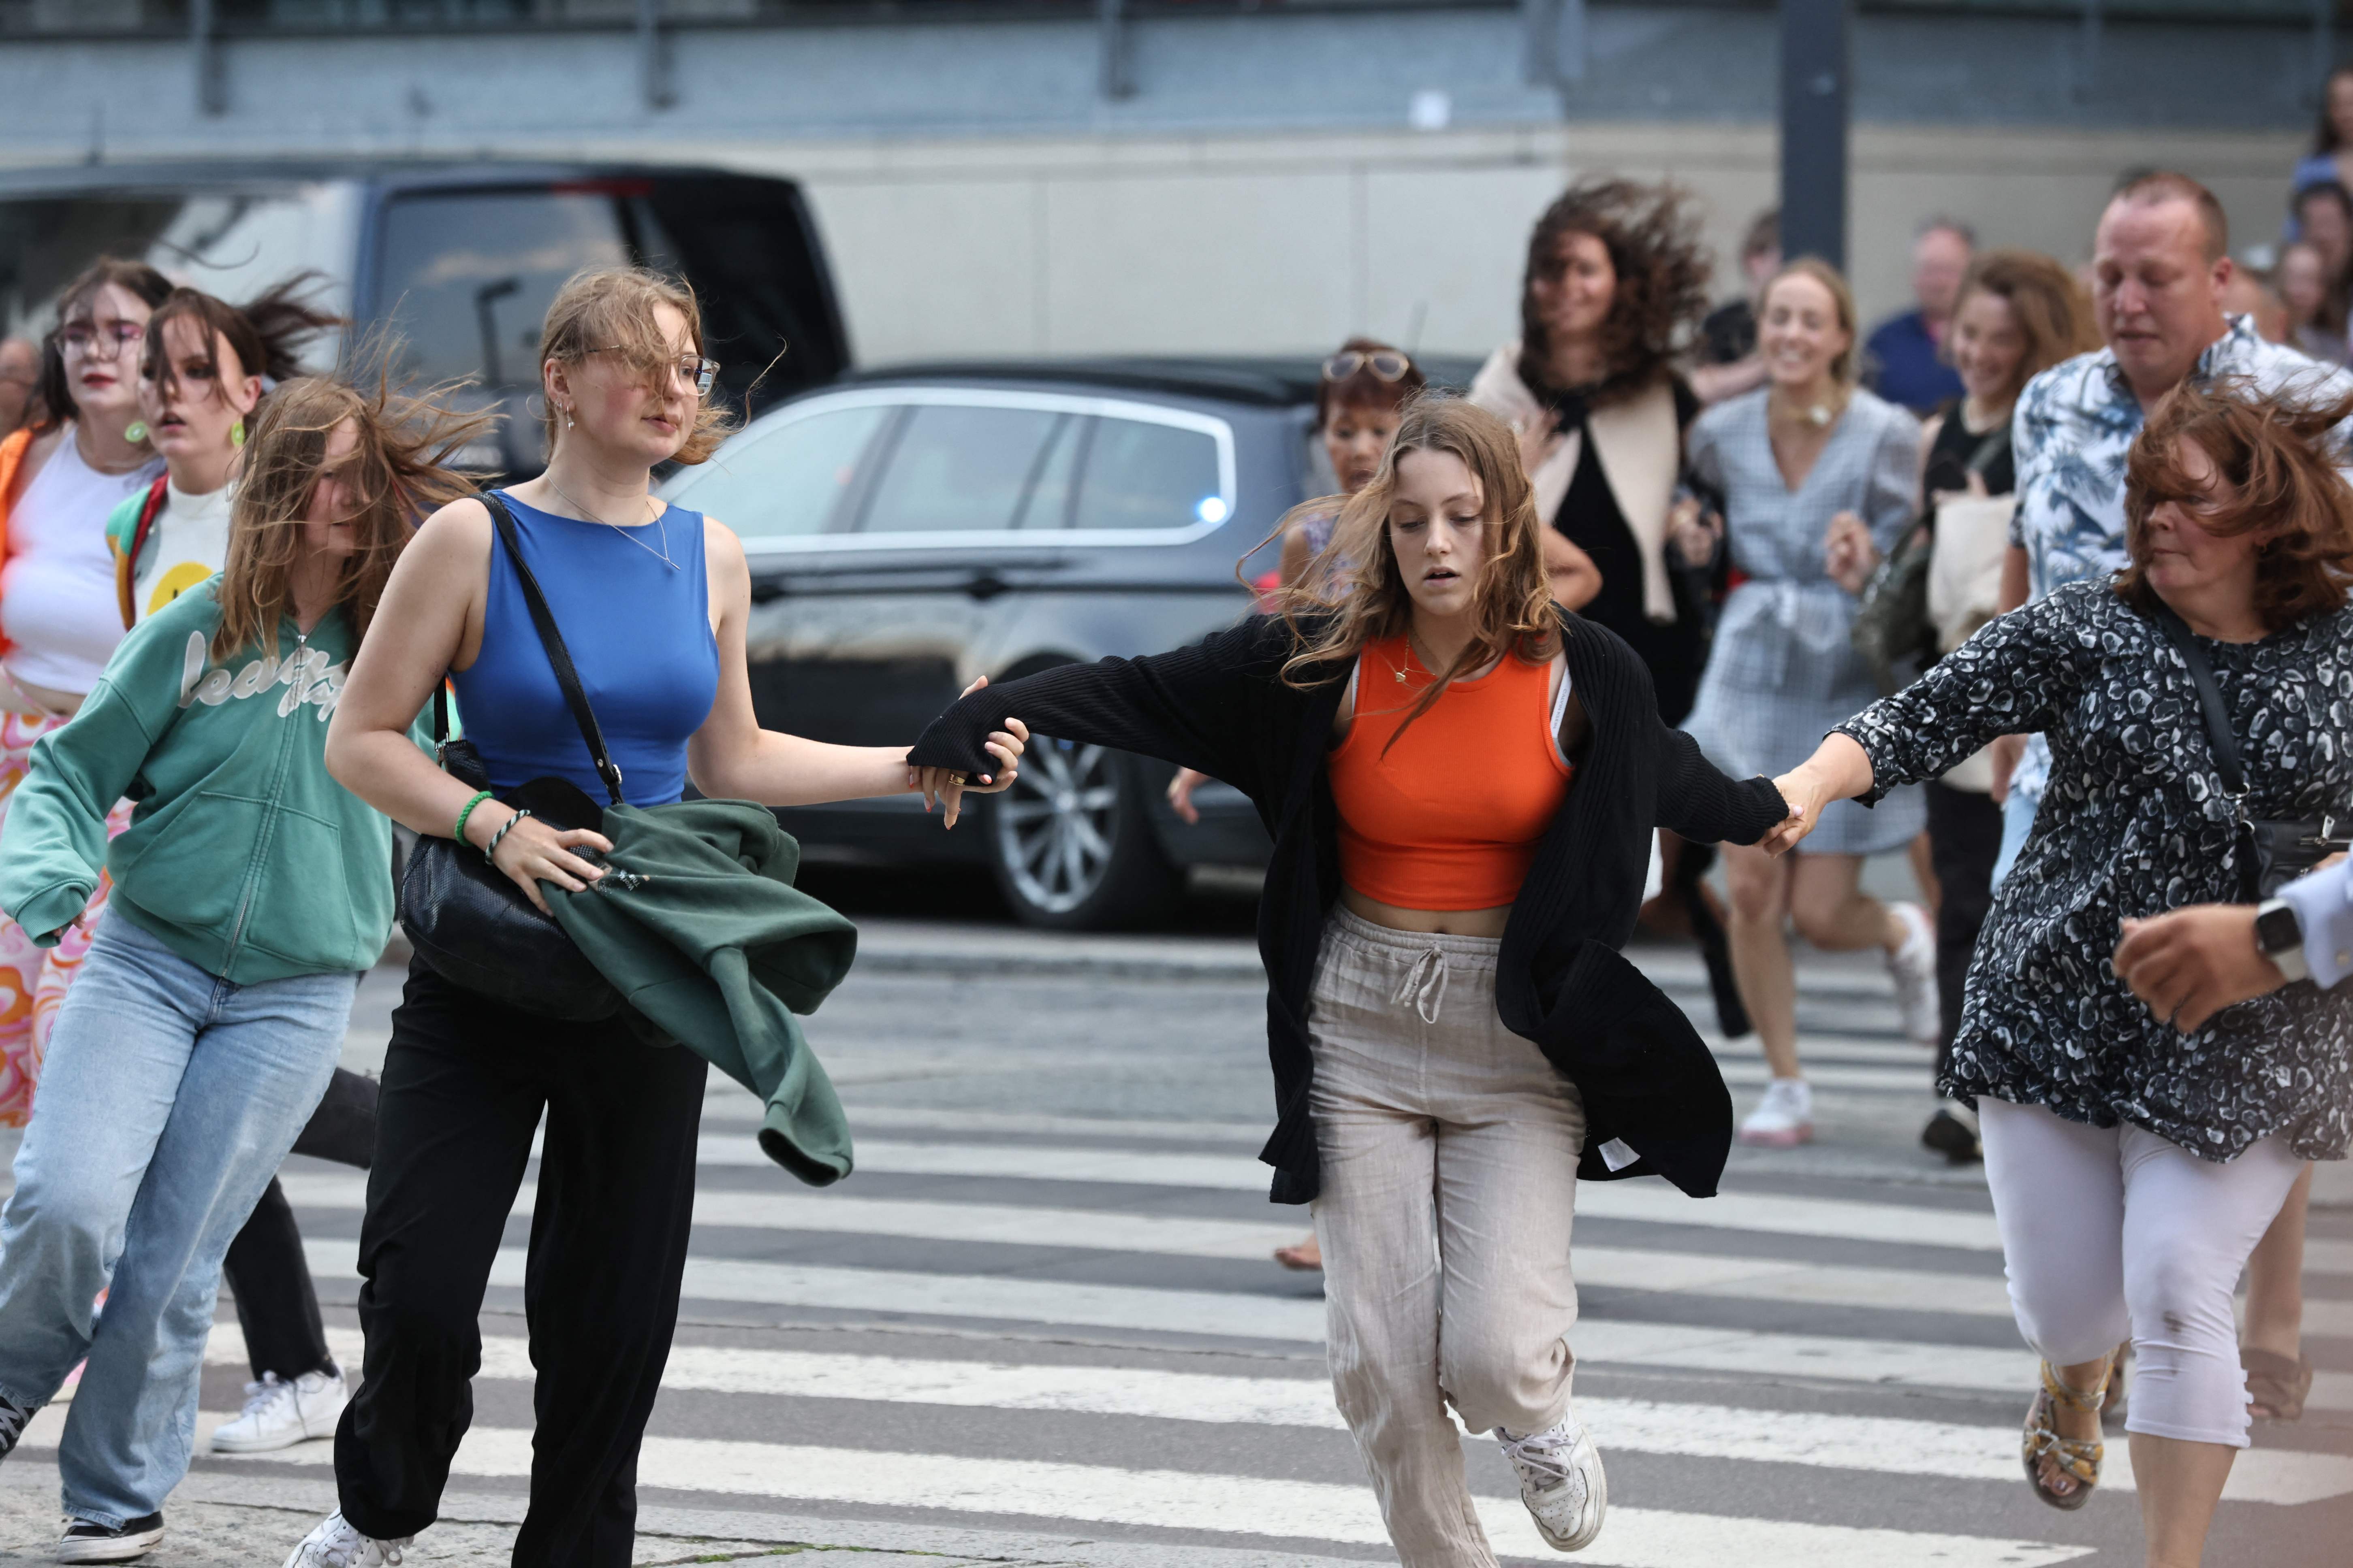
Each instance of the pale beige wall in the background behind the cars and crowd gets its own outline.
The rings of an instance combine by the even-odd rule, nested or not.
[[[664,148],[678,155],[682,148]],[[1725,263],[1772,200],[1769,127],[699,148],[798,174],[861,362],[918,355],[1320,353],[1351,331],[1485,353],[1513,329],[1527,226],[1581,172],[1671,176]],[[2080,261],[2115,174],[2209,181],[2235,240],[2278,233],[2297,139],[1859,127],[1854,282],[1906,299],[1920,219]]]

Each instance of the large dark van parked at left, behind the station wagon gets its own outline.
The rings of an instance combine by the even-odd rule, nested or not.
[[[56,289],[101,254],[146,259],[231,301],[304,268],[322,273],[360,334],[393,334],[398,371],[482,381],[473,397],[501,402],[511,418],[496,451],[468,456],[508,475],[546,461],[525,397],[539,388],[548,301],[584,266],[685,275],[736,409],[755,414],[849,364],[800,188],[758,174],[501,160],[0,172],[9,331],[45,329]]]

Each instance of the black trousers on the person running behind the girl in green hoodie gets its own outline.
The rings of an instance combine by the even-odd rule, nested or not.
[[[367,1168],[376,1154],[376,1081],[358,1072],[334,1070],[327,1095],[311,1112],[296,1154],[334,1159]],[[238,1328],[245,1331],[245,1359],[254,1363],[254,1382],[275,1373],[294,1382],[304,1373],[332,1373],[327,1326],[318,1316],[318,1291],[311,1286],[311,1260],[301,1251],[294,1206],[278,1178],[271,1178],[245,1229],[228,1244],[221,1260],[228,1293],[238,1300]]]

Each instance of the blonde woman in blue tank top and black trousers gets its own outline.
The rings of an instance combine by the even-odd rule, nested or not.
[[[744,665],[751,571],[720,522],[649,494],[656,463],[701,463],[727,433],[711,404],[694,296],[654,273],[593,270],[558,292],[541,334],[548,468],[504,491],[633,806],[704,795],[800,806],[920,790],[953,827],[962,776],[906,748],[762,731]],[[327,766],[416,832],[464,837],[539,907],[581,891],[600,835],[558,830],[440,771],[407,738],[449,672],[466,733],[506,790],[602,785],[532,625],[489,508],[438,510],[384,590],[327,736]],[[1019,724],[998,733],[1012,783]],[[539,1368],[532,1505],[515,1563],[626,1568],[638,1443],[678,1321],[694,1218],[704,1058],[642,1044],[624,1020],[560,1023],[409,966],[384,1060],[376,1164],[360,1229],[365,1382],[334,1439],[341,1507],[287,1568],[376,1568],[433,1523],[473,1418],[478,1316],[546,1112],[525,1284]]]

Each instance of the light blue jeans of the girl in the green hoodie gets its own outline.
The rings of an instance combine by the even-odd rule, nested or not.
[[[38,1408],[89,1359],[66,1514],[120,1526],[188,1472],[221,1253],[327,1091],[358,983],[231,985],[120,912],[99,924],[0,1208],[0,1394]]]

